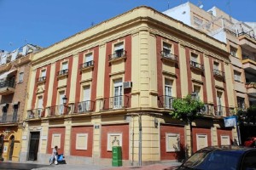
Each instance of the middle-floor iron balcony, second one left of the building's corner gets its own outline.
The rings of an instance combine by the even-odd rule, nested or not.
[[[91,100],[87,100],[87,101],[82,101],[79,103],[76,103],[74,106],[74,111],[73,113],[79,113],[79,114],[83,114],[83,113],[88,113],[90,111],[94,111],[94,106],[95,106],[95,102],[91,101]]]

